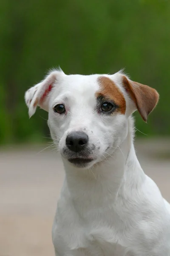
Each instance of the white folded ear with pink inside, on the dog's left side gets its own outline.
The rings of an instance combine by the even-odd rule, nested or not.
[[[25,93],[25,101],[28,107],[28,113],[31,117],[34,115],[37,106],[48,111],[49,95],[52,88],[55,86],[57,80],[64,73],[62,70],[54,70],[45,77],[43,81],[31,87]]]

